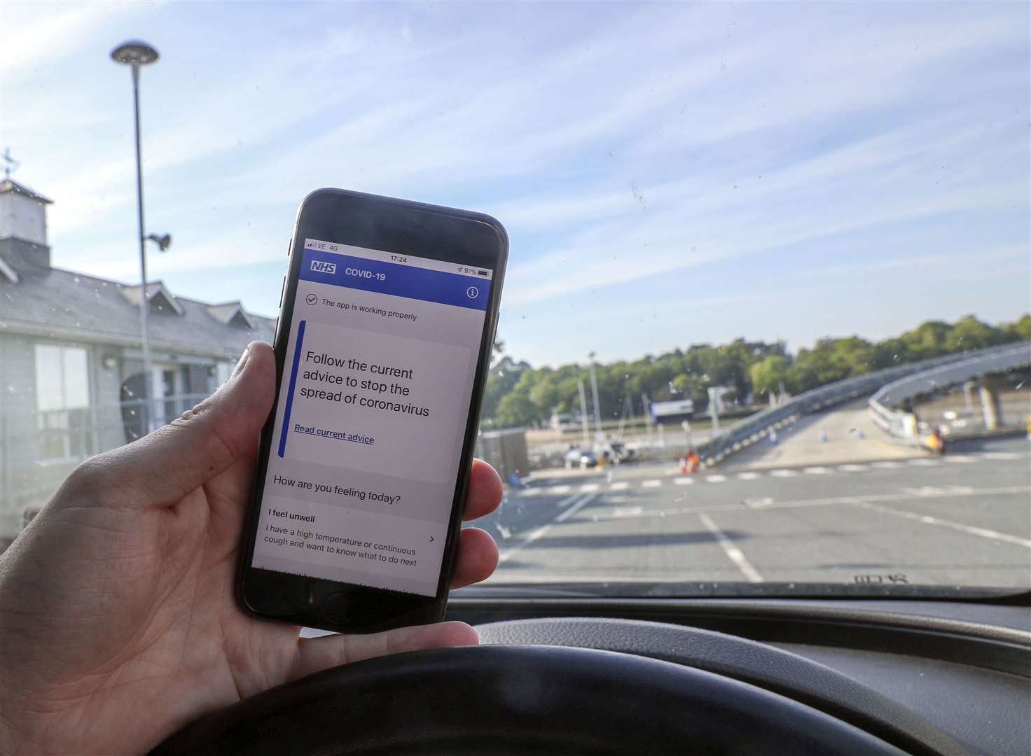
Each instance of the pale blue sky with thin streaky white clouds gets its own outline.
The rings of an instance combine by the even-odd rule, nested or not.
[[[1031,5],[0,3],[55,265],[274,316],[320,186],[487,212],[534,365],[1031,310]]]

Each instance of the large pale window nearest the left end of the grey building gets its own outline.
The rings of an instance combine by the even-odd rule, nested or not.
[[[90,378],[86,349],[36,344],[36,427],[41,461],[89,452]]]

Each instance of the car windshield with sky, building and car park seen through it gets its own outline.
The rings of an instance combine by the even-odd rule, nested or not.
[[[1026,3],[4,16],[0,547],[271,341],[341,186],[508,231],[488,587],[1031,587]]]

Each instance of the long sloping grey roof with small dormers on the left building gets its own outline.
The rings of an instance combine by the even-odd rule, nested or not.
[[[16,257],[5,262],[16,271],[19,281],[12,283],[0,276],[0,332],[139,344],[139,306],[133,304],[139,302],[138,285],[127,286]],[[147,291],[153,294],[159,283],[148,282]],[[226,305],[174,299],[181,315],[162,307],[163,298],[152,301],[148,331],[155,349],[230,357],[251,341],[272,341],[272,318],[246,313],[252,325],[247,328],[241,318],[226,321]]]

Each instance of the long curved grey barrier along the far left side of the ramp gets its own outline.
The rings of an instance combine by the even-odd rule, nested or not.
[[[800,393],[797,397],[792,397],[787,402],[783,402],[775,407],[762,410],[761,412],[750,415],[742,420],[738,420],[732,425],[728,425],[726,431],[721,433],[719,436],[699,445],[697,451],[699,456],[702,458],[702,465],[705,467],[712,467],[714,465],[719,465],[735,452],[747,448],[752,444],[758,443],[760,440],[768,437],[771,432],[778,431],[785,425],[795,422],[802,415],[819,412],[839,404],[844,404],[845,402],[859,399],[860,397],[869,397],[870,394],[878,392],[878,389],[888,388],[896,383],[901,383],[902,380],[907,379],[910,376],[914,377],[924,373],[931,373],[935,370],[945,370],[952,366],[958,366],[961,364],[973,365],[978,364],[978,360],[980,360],[979,364],[986,366],[1007,365],[1006,357],[1002,356],[1003,354],[1017,352],[1021,349],[1023,349],[1026,354],[1029,347],[1031,347],[1031,344],[1029,343],[1024,343],[1018,346],[1007,344],[1002,347],[991,347],[989,349],[982,349],[978,351],[963,352],[960,354],[946,354],[941,357],[907,363],[895,368],[886,368],[884,370],[873,371],[872,373],[864,373],[863,375],[855,376],[853,378],[835,381],[834,383],[829,383],[825,386],[820,386],[819,388],[813,388],[805,391],[804,393]],[[983,371],[983,373],[998,372],[999,370],[1005,369],[1005,367],[993,367],[992,370],[986,370]],[[937,375],[942,376],[941,378],[938,378],[938,380],[944,380],[944,376],[950,376],[952,374],[949,372],[942,372]],[[962,380],[965,379],[961,379],[961,381]],[[924,383],[922,385],[926,386],[927,384]],[[873,409],[872,404],[871,409]],[[878,409],[873,409],[873,419],[878,425],[885,427],[888,433],[896,436],[892,428],[894,428],[897,423],[903,422],[903,420],[902,418],[892,416],[891,411],[888,410],[887,407],[883,409],[883,413]],[[886,424],[889,427],[886,427]],[[899,436],[898,438],[902,437]]]

